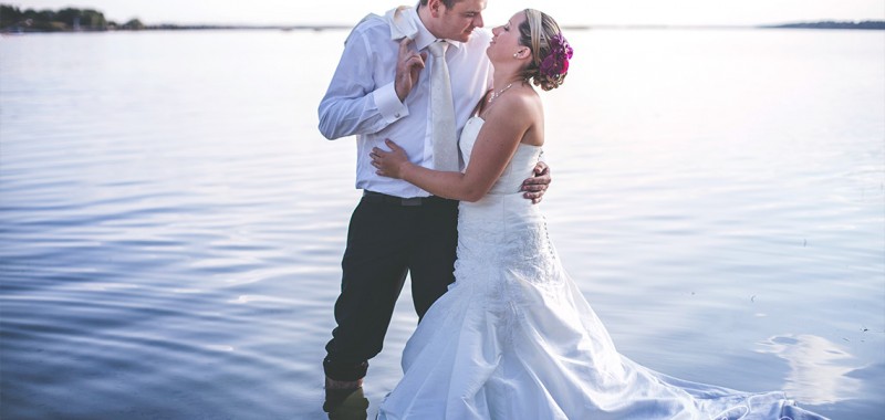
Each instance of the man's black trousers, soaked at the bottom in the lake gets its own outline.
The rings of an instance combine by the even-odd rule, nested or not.
[[[337,327],[323,361],[326,376],[365,376],[367,360],[381,353],[408,272],[415,312],[419,319],[424,316],[455,281],[457,242],[457,201],[364,193],[351,218],[341,263]]]

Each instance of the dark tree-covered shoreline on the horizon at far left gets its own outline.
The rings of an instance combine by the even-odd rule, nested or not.
[[[3,32],[107,31],[135,30],[144,27],[138,19],[132,19],[123,24],[108,21],[104,13],[93,9],[22,11],[18,7],[0,4],[0,31]]]

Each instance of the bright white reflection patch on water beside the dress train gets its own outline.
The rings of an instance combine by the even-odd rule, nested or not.
[[[783,390],[790,398],[811,405],[826,405],[854,398],[863,382],[850,375],[857,368],[845,349],[813,335],[771,337],[761,353],[773,354],[790,366]]]

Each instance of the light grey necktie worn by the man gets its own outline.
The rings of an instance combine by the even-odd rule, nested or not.
[[[446,49],[449,43],[437,40],[427,46],[434,54],[430,70],[430,123],[434,140],[434,169],[457,171],[458,141],[455,138],[455,105],[451,99],[449,66],[446,64]]]

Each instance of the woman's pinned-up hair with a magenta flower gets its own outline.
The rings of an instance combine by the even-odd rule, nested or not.
[[[532,61],[522,76],[544,91],[559,87],[569,73],[572,57],[572,46],[562,36],[560,25],[546,13],[525,9],[525,21],[519,25],[519,43],[532,52]]]

